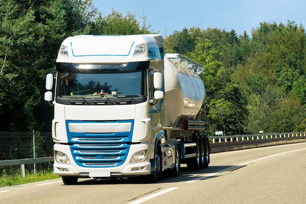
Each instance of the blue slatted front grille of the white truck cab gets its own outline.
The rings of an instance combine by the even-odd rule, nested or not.
[[[129,132],[117,133],[76,133],[69,131],[69,123],[87,124],[120,124],[131,123]],[[82,167],[116,167],[122,165],[127,159],[134,120],[117,121],[79,121],[66,120],[66,130],[70,150],[74,161]]]

